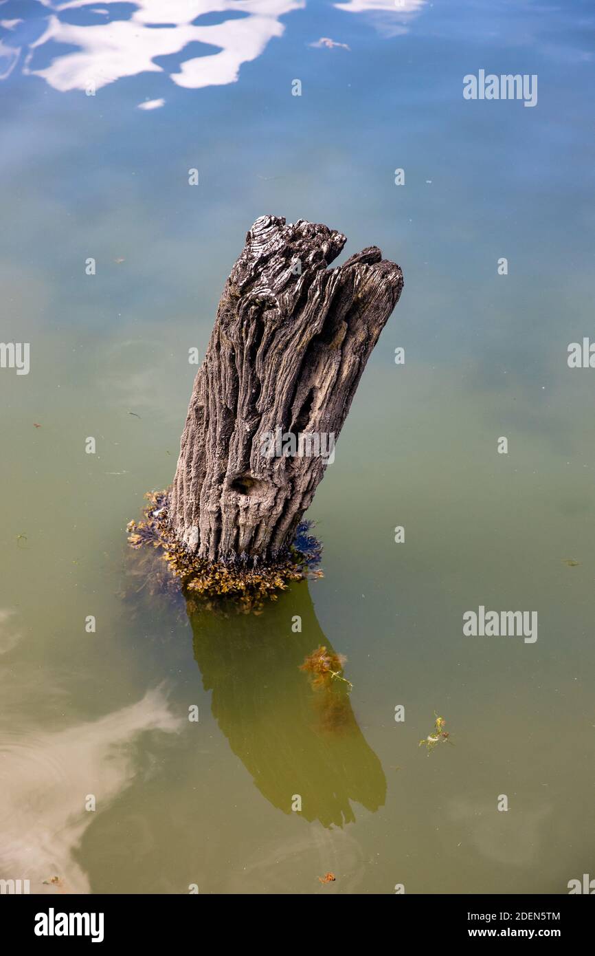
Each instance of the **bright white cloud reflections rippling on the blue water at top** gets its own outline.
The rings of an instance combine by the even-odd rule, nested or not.
[[[41,76],[61,92],[98,90],[140,73],[164,73],[189,89],[233,83],[244,63],[284,33],[281,18],[306,7],[306,0],[107,0],[100,6],[94,0],[39,2],[48,12],[34,38],[31,19],[27,24],[18,18],[0,21],[11,34],[11,42],[0,45],[0,78],[11,73],[22,55],[25,75]],[[407,20],[424,5],[425,0],[349,0],[334,7],[381,16],[381,29],[394,34],[405,33]],[[204,49],[197,50],[198,44]],[[331,39],[324,45],[345,46]],[[43,66],[42,55],[49,57]],[[160,57],[175,62],[160,64]],[[142,108],[157,109],[164,101],[153,99]]]

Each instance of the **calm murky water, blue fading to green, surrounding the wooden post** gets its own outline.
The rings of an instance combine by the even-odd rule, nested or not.
[[[87,97],[76,61],[32,75],[77,46],[32,51],[49,15],[84,33],[87,6],[0,6],[22,20],[0,84],[1,337],[31,343],[29,375],[0,369],[0,878],[566,892],[595,850],[595,371],[566,361],[593,337],[592,9],[280,2],[267,41],[245,0],[237,81],[219,61],[172,80],[199,42],[183,33],[155,54],[162,73],[129,58]],[[94,6],[179,22],[158,3]],[[87,57],[100,74],[95,40]],[[479,68],[537,74],[537,107],[465,101]],[[308,514],[324,579],[258,617],[188,617],[135,593],[125,525],[173,477],[188,349],[204,354],[267,212],[341,229],[346,256],[377,243],[405,290]],[[538,640],[463,636],[479,605],[537,611]],[[319,644],[347,655],[349,697],[299,671]],[[435,709],[455,746],[427,756]]]

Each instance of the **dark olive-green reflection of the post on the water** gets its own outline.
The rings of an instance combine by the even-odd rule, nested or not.
[[[383,806],[384,771],[357,726],[345,684],[313,689],[300,670],[318,645],[331,649],[308,583],[293,585],[260,617],[224,618],[201,603],[193,607],[190,599],[194,656],[204,689],[213,692],[213,716],[266,799],[290,814],[297,793],[297,815],[325,827],[354,820],[351,802],[372,813]],[[299,633],[291,629],[295,616]],[[357,692],[355,686],[351,695]]]

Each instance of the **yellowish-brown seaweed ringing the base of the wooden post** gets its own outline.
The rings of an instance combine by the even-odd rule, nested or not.
[[[309,521],[301,522],[291,548],[275,561],[257,563],[247,555],[226,562],[209,561],[192,554],[178,540],[169,522],[166,490],[149,491],[145,498],[149,503],[141,520],[129,521],[126,526],[129,543],[135,549],[159,549],[184,596],[201,598],[207,607],[231,598],[238,611],[258,614],[265,600],[276,600],[289,582],[322,576],[322,571],[313,570],[320,561],[322,546],[308,533],[312,526]]]

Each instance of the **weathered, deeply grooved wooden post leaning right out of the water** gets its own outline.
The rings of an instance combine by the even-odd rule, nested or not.
[[[194,383],[169,502],[177,538],[200,557],[283,554],[313,498],[324,458],[267,457],[264,443],[279,429],[338,437],[403,286],[376,247],[328,269],[345,242],[275,216],[246,235]]]

